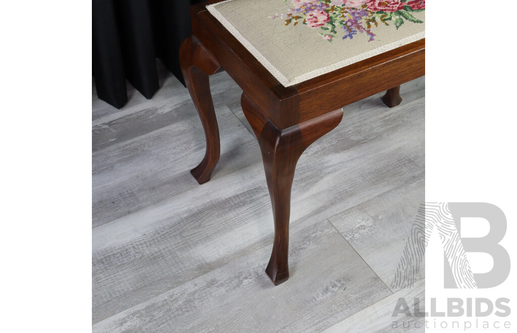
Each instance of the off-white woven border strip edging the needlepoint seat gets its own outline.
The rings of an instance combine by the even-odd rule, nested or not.
[[[280,82],[284,87],[292,86],[297,83],[310,80],[311,78],[314,78],[316,76],[320,76],[335,70],[338,70],[340,68],[343,68],[348,65],[352,65],[355,62],[359,62],[364,59],[371,58],[373,56],[379,55],[384,52],[388,52],[394,49],[397,49],[397,47],[416,42],[417,40],[425,38],[425,31],[421,31],[418,34],[408,36],[403,39],[399,39],[397,41],[394,41],[392,43],[377,47],[376,49],[370,50],[368,52],[364,52],[361,54],[358,54],[353,57],[348,57],[346,59],[340,60],[338,62],[335,62],[332,65],[328,65],[322,68],[315,69],[313,71],[310,71],[308,73],[295,76],[292,80],[289,80],[285,75],[283,75],[269,60],[267,60],[266,57],[264,57],[255,47],[246,39],[244,36],[242,36],[239,31],[228,21],[226,20],[223,15],[215,8],[215,6],[227,3],[233,0],[225,0],[222,2],[219,2],[217,4],[208,5],[206,6],[206,9],[214,15],[214,17],[221,22],[221,24],[228,30],[230,33],[237,38],[237,40],[246,47],[246,49],[258,60],[260,63],[271,73],[271,75],[275,76],[275,78]]]

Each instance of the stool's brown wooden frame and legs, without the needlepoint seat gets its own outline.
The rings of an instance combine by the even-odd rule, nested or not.
[[[419,40],[336,71],[284,87],[205,8],[191,7],[193,36],[182,46],[182,69],[205,129],[207,150],[192,170],[204,183],[219,158],[219,133],[209,95],[208,74],[219,65],[244,91],[242,110],[260,143],[275,221],[275,239],[266,269],[273,283],[289,277],[288,226],[296,162],[314,140],[336,127],[340,108],[387,90],[383,101],[400,104],[400,85],[423,76],[425,40]],[[187,59],[188,58],[188,59]],[[204,70],[194,70],[203,68]]]

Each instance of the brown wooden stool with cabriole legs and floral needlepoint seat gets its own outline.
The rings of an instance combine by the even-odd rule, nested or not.
[[[225,70],[243,90],[256,134],[275,222],[266,268],[289,277],[291,187],[298,158],[334,129],[344,105],[425,72],[424,0],[212,0],[191,6],[193,35],[180,49],[185,81],[203,123],[206,153],[191,170],[203,184],[219,160],[219,130],[208,76]]]

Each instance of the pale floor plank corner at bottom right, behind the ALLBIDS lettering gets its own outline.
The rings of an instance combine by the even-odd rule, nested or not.
[[[379,302],[363,309],[347,319],[325,329],[323,333],[343,332],[424,332],[424,318],[407,318],[405,314],[392,316],[399,298],[404,298],[413,313],[414,298],[418,298],[421,312],[425,311],[425,280],[417,281],[413,287],[402,289]],[[407,309],[407,308],[406,308]],[[405,310],[405,309],[404,309]]]

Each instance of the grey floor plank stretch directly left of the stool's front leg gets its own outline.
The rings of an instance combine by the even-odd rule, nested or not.
[[[263,172],[258,162],[255,174]],[[271,242],[272,218],[263,225],[253,218],[261,207],[264,214],[270,210],[266,186],[247,179],[249,171],[94,228],[94,322],[230,262],[257,242]]]

